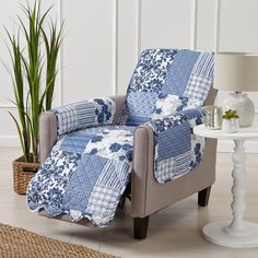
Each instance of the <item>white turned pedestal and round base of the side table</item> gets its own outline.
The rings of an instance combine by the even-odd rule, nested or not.
[[[245,148],[244,140],[235,140],[233,153],[233,220],[213,222],[202,228],[203,236],[218,245],[258,247],[258,224],[245,222]]]

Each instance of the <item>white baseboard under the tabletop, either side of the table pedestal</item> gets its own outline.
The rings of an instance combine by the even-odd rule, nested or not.
[[[218,142],[218,152],[233,152],[234,142],[230,140],[220,140]],[[258,153],[258,141],[246,141],[245,142],[246,153]]]

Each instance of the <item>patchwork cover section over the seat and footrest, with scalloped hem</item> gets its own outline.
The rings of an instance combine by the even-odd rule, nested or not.
[[[130,180],[133,127],[107,126],[59,140],[27,188],[27,206],[107,226]],[[71,149],[81,139],[83,149]],[[87,139],[85,141],[85,139]],[[70,148],[68,150],[68,148]]]

